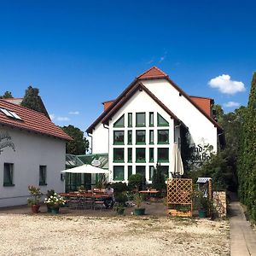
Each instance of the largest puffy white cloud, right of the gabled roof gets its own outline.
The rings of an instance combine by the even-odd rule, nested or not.
[[[223,74],[215,79],[211,79],[208,84],[212,88],[217,88],[220,92],[225,94],[235,94],[236,92],[246,90],[242,82],[231,80],[228,74]]]

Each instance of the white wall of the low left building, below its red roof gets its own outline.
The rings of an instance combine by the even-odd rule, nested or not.
[[[26,204],[28,185],[39,187],[39,166],[46,166],[46,183],[40,186],[43,193],[48,189],[64,191],[61,172],[65,170],[66,141],[36,134],[9,126],[2,126],[0,134],[9,134],[13,148],[3,148],[0,154],[0,207]],[[3,139],[4,142],[4,139]],[[13,164],[13,185],[3,185],[4,163]]]

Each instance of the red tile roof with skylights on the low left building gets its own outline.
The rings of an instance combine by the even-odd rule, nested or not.
[[[0,124],[17,127],[27,131],[34,131],[36,133],[49,135],[52,137],[59,137],[65,140],[73,140],[67,133],[56,126],[51,120],[49,120],[44,113],[39,113],[29,108],[21,107],[17,104],[0,100],[0,108],[13,111],[20,116],[22,120],[13,119],[6,116],[0,110]]]

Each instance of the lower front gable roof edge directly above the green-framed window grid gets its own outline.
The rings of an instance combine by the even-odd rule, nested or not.
[[[154,94],[150,90],[148,90],[147,87],[145,87],[142,83],[137,83],[119,102],[114,104],[113,108],[102,119],[102,124],[108,124],[108,120],[111,119],[113,115],[117,113],[119,108],[124,106],[125,102],[131,99],[131,96],[133,96],[138,90],[144,90],[148,94],[148,96],[150,96],[154,100],[154,102],[156,102],[161,108],[163,108],[166,111],[166,113],[168,113],[171,116],[172,119],[180,121],[177,118],[177,116],[174,113],[172,113],[172,111],[169,108],[167,108],[163,102],[161,102],[156,96],[154,96]]]

